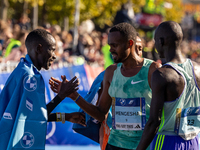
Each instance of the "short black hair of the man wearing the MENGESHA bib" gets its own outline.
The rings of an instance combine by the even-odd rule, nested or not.
[[[119,31],[120,34],[125,38],[126,41],[133,40],[136,41],[137,32],[135,28],[126,22],[114,25],[109,32]]]

